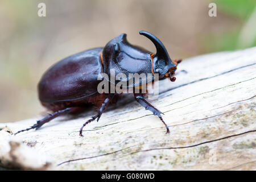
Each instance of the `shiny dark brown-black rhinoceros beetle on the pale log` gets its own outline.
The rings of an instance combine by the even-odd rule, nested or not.
[[[59,115],[76,114],[88,107],[96,106],[97,114],[86,121],[80,129],[82,137],[83,127],[95,119],[98,121],[106,106],[121,98],[122,94],[97,92],[97,85],[102,81],[98,80],[98,75],[105,73],[111,76],[111,69],[114,69],[115,75],[118,73],[125,75],[129,73],[155,75],[158,73],[159,79],[170,78],[171,81],[175,81],[174,73],[181,60],[172,61],[163,43],[156,36],[146,31],[140,31],[139,34],[146,36],[154,43],[156,53],[131,45],[127,42],[126,34],[121,34],[110,40],[104,48],[94,48],[76,53],[49,68],[39,81],[38,94],[41,104],[53,113],[37,121],[30,128],[20,130],[15,134],[39,129],[44,123]],[[153,82],[154,78],[151,81]],[[127,87],[135,88],[141,84],[141,81],[133,82]],[[169,133],[170,130],[161,117],[163,113],[149,104],[144,99],[144,95],[143,93],[134,93],[134,98],[147,110],[157,115]]]

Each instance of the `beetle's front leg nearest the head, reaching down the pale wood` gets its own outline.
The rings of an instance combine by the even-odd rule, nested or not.
[[[145,107],[146,110],[150,110],[154,115],[157,115],[160,120],[164,123],[164,126],[166,126],[166,133],[170,133],[169,127],[166,125],[166,123],[163,121],[163,118],[161,114],[163,114],[161,111],[156,109],[154,106],[149,104],[143,97],[142,94],[134,93],[134,98],[139,104],[141,104],[143,107]]]

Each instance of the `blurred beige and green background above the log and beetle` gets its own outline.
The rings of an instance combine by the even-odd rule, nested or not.
[[[40,2],[46,3],[46,17],[38,16]],[[217,5],[217,17],[208,15],[210,2]],[[45,111],[36,90],[44,71],[121,33],[154,52],[138,34],[149,31],[171,58],[256,46],[255,7],[255,0],[0,1],[0,122]]]

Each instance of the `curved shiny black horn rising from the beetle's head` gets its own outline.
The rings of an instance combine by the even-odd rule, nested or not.
[[[164,47],[163,43],[156,36],[150,34],[149,32],[146,32],[146,31],[140,31],[139,34],[146,36],[146,38],[150,39],[152,41],[152,43],[155,44],[156,54],[155,54],[154,58],[156,57],[157,60],[162,59],[167,64],[169,61],[171,61],[170,56],[166,50],[166,47]]]

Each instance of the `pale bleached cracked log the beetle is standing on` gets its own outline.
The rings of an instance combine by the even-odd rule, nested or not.
[[[186,59],[176,77],[176,82],[160,81],[159,97],[150,100],[163,111],[170,134],[157,117],[127,97],[102,114],[99,122],[87,125],[85,137],[79,137],[79,129],[93,111],[56,118],[40,130],[16,136],[11,133],[42,116],[1,123],[2,166],[255,170],[256,48]]]

